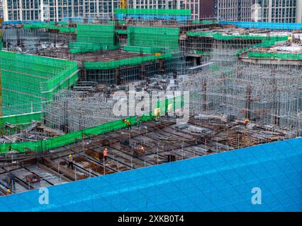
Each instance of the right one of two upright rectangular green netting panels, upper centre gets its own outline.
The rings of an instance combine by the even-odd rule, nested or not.
[[[128,46],[179,50],[179,28],[128,27]]]

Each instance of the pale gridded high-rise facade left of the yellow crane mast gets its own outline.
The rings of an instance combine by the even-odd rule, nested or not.
[[[64,17],[111,18],[119,0],[3,0],[4,20],[61,21]]]

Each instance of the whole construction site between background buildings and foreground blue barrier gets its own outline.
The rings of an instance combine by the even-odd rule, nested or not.
[[[2,25],[0,195],[302,135],[302,27],[115,16]],[[181,92],[143,115],[113,114],[116,92],[162,91]]]

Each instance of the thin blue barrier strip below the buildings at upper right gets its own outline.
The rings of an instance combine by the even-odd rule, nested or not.
[[[222,25],[235,25],[239,28],[259,28],[259,29],[278,29],[278,30],[300,30],[302,23],[264,23],[264,22],[245,22],[245,21],[219,21]]]

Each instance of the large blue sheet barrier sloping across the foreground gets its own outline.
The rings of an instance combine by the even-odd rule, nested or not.
[[[301,211],[302,138],[3,196],[2,211]],[[262,203],[252,204],[259,188]]]

